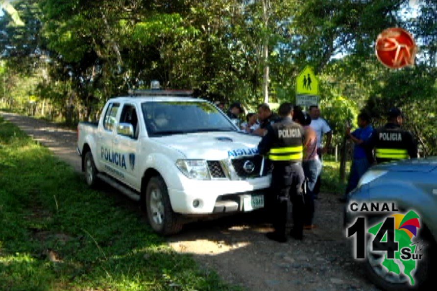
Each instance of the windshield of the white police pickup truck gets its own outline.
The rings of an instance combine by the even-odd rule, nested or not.
[[[152,101],[141,107],[149,136],[237,131],[224,114],[208,102]]]

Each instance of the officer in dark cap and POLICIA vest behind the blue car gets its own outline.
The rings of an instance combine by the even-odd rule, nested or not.
[[[388,111],[388,123],[373,131],[367,145],[375,149],[376,163],[417,157],[417,144],[413,135],[401,129],[402,112],[398,108]]]

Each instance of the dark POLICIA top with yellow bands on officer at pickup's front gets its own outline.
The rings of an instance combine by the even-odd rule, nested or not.
[[[268,153],[268,158],[275,164],[300,162],[303,157],[305,130],[291,120],[290,117],[267,126],[267,134],[263,136],[258,151],[261,155]]]

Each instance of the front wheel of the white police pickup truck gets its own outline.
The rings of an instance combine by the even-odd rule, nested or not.
[[[167,185],[160,176],[148,181],[145,202],[147,219],[154,231],[169,235],[182,229],[179,215],[171,208]]]

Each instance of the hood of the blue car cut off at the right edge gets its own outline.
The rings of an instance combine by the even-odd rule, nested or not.
[[[372,170],[393,172],[423,172],[428,173],[437,169],[437,157],[413,158],[408,160],[394,161],[373,166]]]

